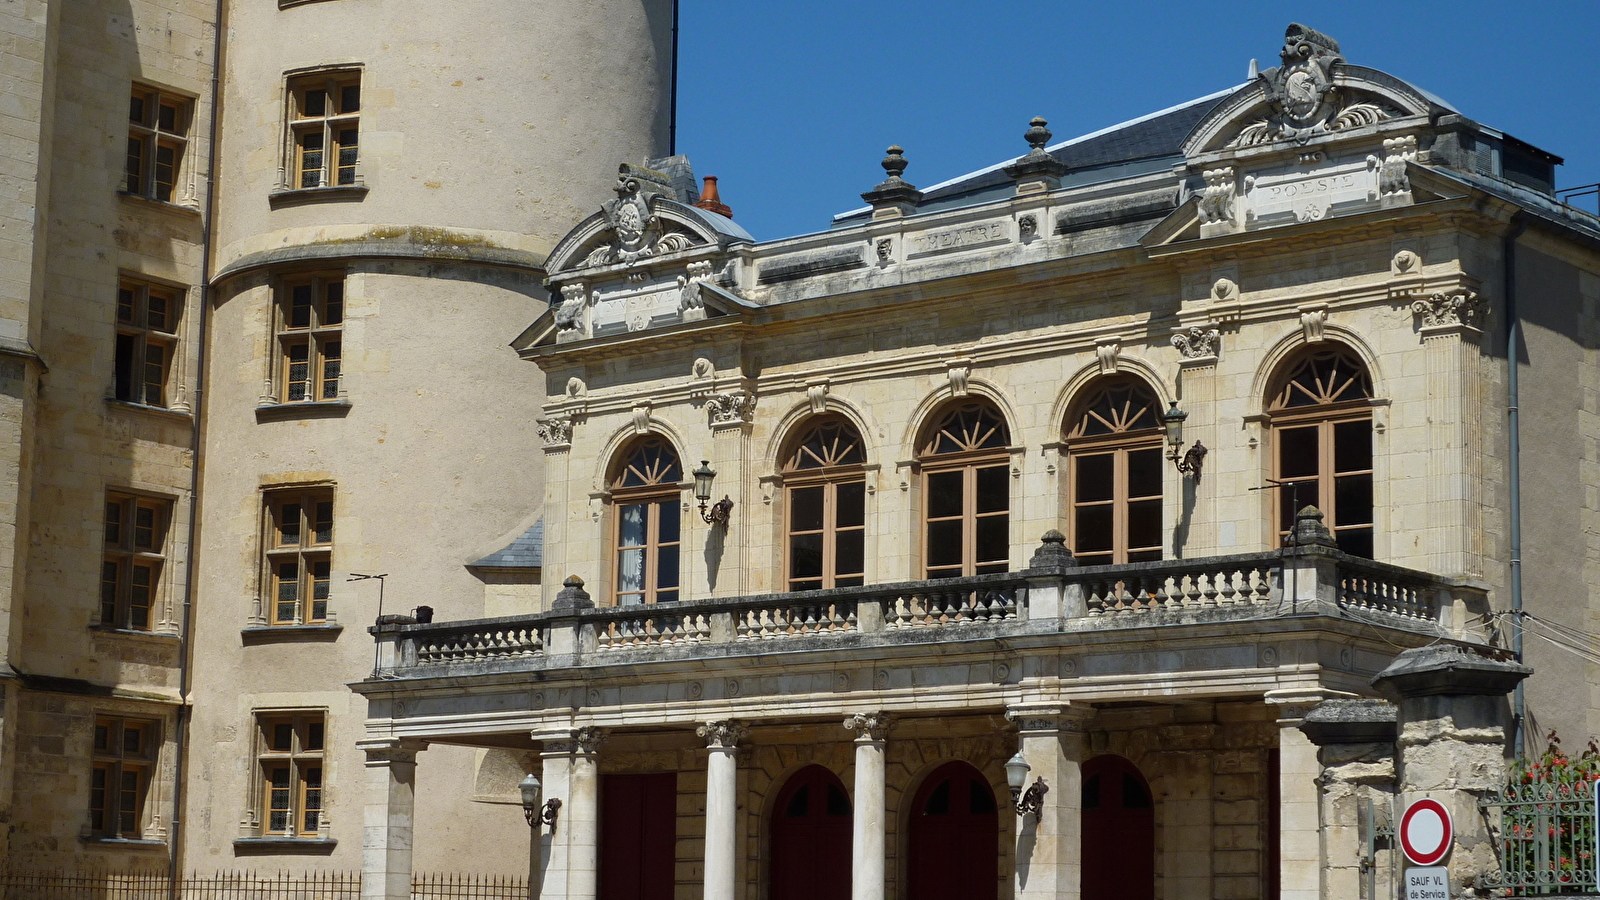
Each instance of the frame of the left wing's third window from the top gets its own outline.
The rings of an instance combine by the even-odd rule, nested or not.
[[[117,511],[115,522],[112,509]],[[150,544],[139,543],[139,512],[150,512]],[[163,577],[166,573],[166,541],[171,536],[173,501],[163,496],[107,490],[101,516],[101,580],[99,580],[99,628],[117,631],[154,633]],[[115,535],[112,530],[115,528]],[[138,625],[134,612],[136,573],[149,572],[144,585],[144,625]],[[115,575],[109,580],[107,575]]]

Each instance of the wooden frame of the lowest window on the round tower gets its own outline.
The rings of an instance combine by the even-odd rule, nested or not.
[[[326,839],[328,711],[256,709],[253,719],[256,767],[250,809],[256,814],[256,834],[277,841]],[[286,748],[277,745],[278,727],[288,727]],[[312,740],[314,733],[320,735],[320,743]],[[286,770],[282,786],[274,780],[277,770]],[[282,807],[274,806],[280,790]],[[274,828],[277,812],[283,814],[283,828]],[[307,828],[310,812],[317,815],[314,828]]]

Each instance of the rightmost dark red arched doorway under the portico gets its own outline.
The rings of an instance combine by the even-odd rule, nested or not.
[[[1083,900],[1155,900],[1155,802],[1120,756],[1083,764]]]

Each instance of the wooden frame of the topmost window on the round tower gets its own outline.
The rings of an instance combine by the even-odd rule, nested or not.
[[[362,67],[318,69],[296,72],[285,78],[285,154],[282,191],[325,191],[365,187],[360,165]],[[346,110],[346,88],[355,88],[355,109]],[[309,93],[323,94],[323,112],[309,114]],[[354,147],[342,141],[344,131],[355,133]],[[320,147],[307,147],[304,138],[315,136]],[[349,165],[341,162],[344,149],[354,149]],[[318,152],[320,160],[307,167],[306,154]],[[349,179],[344,170],[349,168]],[[315,173],[315,184],[306,184]]]

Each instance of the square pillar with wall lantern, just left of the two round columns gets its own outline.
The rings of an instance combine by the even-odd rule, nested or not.
[[[594,900],[600,873],[600,772],[595,751],[605,732],[573,729],[542,740],[544,798],[562,801],[555,826],[544,833],[549,863],[544,866],[542,900]]]

